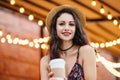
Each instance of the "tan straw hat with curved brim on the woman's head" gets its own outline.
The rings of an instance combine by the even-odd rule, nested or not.
[[[62,6],[58,6],[53,8],[47,15],[46,18],[46,27],[48,29],[48,31],[50,31],[50,25],[51,25],[51,21],[53,19],[53,17],[56,15],[56,13],[58,13],[59,11],[63,10],[63,9],[69,9],[73,12],[75,12],[77,14],[77,16],[80,19],[80,22],[82,23],[82,25],[84,26],[86,23],[86,18],[85,15],[83,14],[83,12],[76,7],[70,6],[70,5],[62,5]]]

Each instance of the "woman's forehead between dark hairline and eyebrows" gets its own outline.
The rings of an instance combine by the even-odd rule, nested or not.
[[[72,16],[71,14],[69,14],[69,13],[62,13],[62,14],[58,17],[57,21],[74,21],[74,18],[73,18],[73,16]]]

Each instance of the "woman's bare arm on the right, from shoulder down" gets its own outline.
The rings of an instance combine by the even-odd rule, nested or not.
[[[96,57],[94,48],[86,45],[83,47],[82,52],[85,80],[96,80]]]

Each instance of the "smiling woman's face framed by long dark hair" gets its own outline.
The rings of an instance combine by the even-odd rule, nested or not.
[[[63,13],[58,17],[56,30],[58,37],[63,41],[70,41],[75,35],[75,20],[69,13]]]

